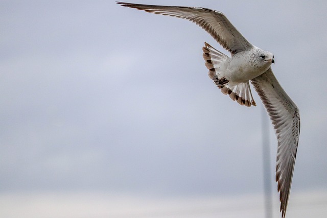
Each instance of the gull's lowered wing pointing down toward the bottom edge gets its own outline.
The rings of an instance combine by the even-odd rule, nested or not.
[[[280,191],[282,217],[285,217],[300,134],[299,111],[279,85],[271,68],[251,82],[266,107],[277,135],[276,182]]]

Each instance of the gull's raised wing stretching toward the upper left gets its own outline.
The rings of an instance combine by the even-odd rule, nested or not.
[[[117,2],[118,4],[144,10],[146,12],[179,17],[197,23],[214,37],[231,55],[250,49],[253,45],[229,22],[227,17],[219,12],[199,7],[140,5]]]

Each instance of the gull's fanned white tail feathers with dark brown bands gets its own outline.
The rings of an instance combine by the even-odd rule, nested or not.
[[[228,59],[228,56],[214,49],[208,43],[204,43],[203,58],[205,60],[205,66],[209,69],[209,77],[214,80],[218,88],[224,94],[228,94],[230,99],[237,101],[240,105],[250,107],[256,106],[249,82],[237,83],[228,81],[225,77],[221,76],[217,71],[217,66]]]

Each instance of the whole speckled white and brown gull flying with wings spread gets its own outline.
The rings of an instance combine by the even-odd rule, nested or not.
[[[252,45],[219,11],[200,7],[157,6],[116,2],[124,7],[195,22],[230,53],[204,43],[203,58],[209,77],[222,93],[247,107],[256,106],[249,82],[258,92],[277,136],[276,182],[285,218],[300,133],[299,109],[275,78],[274,56]]]

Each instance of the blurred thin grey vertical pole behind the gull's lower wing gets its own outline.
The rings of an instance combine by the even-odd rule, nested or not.
[[[262,114],[262,151],[263,151],[263,170],[264,170],[264,192],[265,192],[265,217],[272,218],[271,200],[271,171],[270,171],[270,150],[269,150],[269,120],[264,107]]]

